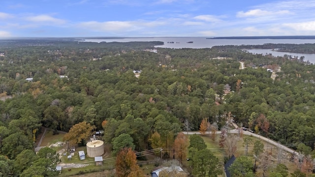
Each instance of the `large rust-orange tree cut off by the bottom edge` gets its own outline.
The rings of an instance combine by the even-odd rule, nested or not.
[[[116,157],[117,177],[145,177],[137,165],[136,154],[131,148],[124,148]]]

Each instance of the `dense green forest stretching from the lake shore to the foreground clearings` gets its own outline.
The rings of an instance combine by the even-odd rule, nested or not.
[[[108,144],[130,136],[138,151],[154,147],[155,132],[168,148],[185,121],[221,129],[231,116],[288,147],[314,148],[314,64],[235,46],[150,52],[160,44],[0,41],[0,155],[14,173],[42,126],[57,133],[83,121],[103,129]]]

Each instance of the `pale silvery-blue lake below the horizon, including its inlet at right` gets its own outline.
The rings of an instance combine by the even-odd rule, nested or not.
[[[82,42],[131,42],[131,41],[161,41],[164,45],[156,46],[162,48],[211,48],[222,45],[262,45],[266,43],[273,44],[306,44],[315,43],[315,39],[206,39],[206,37],[145,37],[145,38],[124,38],[124,39],[85,39]],[[81,42],[81,41],[80,41]],[[192,42],[192,43],[187,43]],[[315,54],[297,54],[289,52],[276,52],[269,49],[248,50],[255,54],[272,54],[273,56],[304,56],[305,61],[309,60],[315,63]]]

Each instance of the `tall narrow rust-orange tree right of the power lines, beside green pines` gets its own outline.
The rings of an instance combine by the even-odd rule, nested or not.
[[[189,140],[183,132],[179,133],[174,142],[175,157],[182,163],[187,159]]]

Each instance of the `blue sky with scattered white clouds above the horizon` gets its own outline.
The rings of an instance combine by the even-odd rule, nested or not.
[[[315,35],[315,0],[1,0],[0,37]]]

